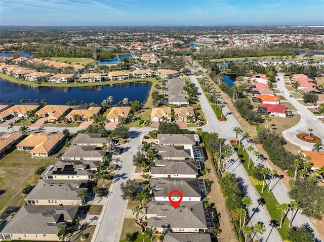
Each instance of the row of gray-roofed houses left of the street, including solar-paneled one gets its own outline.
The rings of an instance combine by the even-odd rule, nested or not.
[[[75,142],[72,142],[71,150],[86,145],[89,150],[95,151],[103,141],[109,140],[101,137],[101,134],[79,134],[75,137]],[[104,155],[101,153],[100,155]],[[80,207],[83,205],[81,194],[83,190],[88,190],[89,180],[93,178],[102,161],[102,159],[92,160],[88,150],[84,153],[79,150],[74,153],[73,159],[65,159],[71,158],[71,155],[65,152],[62,157],[64,160],[59,160],[44,170],[43,179],[39,180],[25,198],[27,205],[22,206],[11,219],[8,219],[8,224],[0,231],[0,238],[30,241],[60,240],[57,235],[60,227],[71,226],[80,213],[83,213]]]

